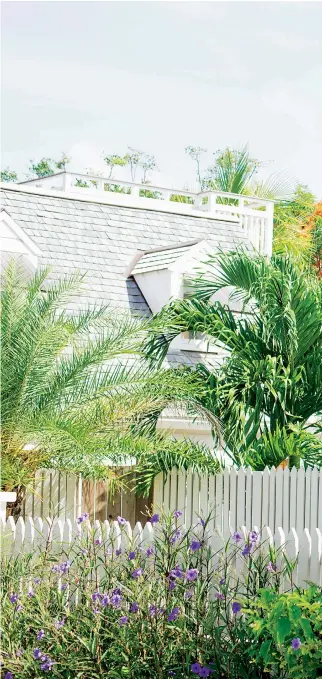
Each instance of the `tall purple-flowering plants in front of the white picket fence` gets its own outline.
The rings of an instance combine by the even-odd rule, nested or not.
[[[281,551],[255,543],[253,535],[240,545],[219,542],[213,552],[208,537],[214,518],[202,518],[203,525],[185,530],[180,515],[161,515],[152,550],[147,544],[138,548],[127,539],[127,526],[121,526],[119,553],[115,532],[101,535],[84,516],[80,536],[61,554],[48,542],[39,554],[8,558],[4,546],[3,672],[12,672],[14,679],[38,678],[46,662],[39,656],[47,655],[54,663],[48,670],[53,679],[188,679],[195,663],[211,668],[215,677],[265,679],[269,661],[261,649],[275,634],[275,602],[292,568]],[[243,556],[250,545],[250,555]],[[236,563],[243,566],[241,572]],[[196,577],[189,581],[191,569]],[[293,596],[283,595],[289,611],[301,606],[301,595]],[[301,610],[307,618],[303,650],[292,658],[299,671],[312,640],[309,624],[317,647],[320,639],[321,613],[312,599],[313,594],[303,595],[311,608],[305,603]],[[240,603],[244,614],[234,613],[233,603]],[[283,623],[276,624],[285,635]],[[307,676],[315,679],[318,670],[311,667]],[[274,679],[285,678],[281,654],[274,669]]]

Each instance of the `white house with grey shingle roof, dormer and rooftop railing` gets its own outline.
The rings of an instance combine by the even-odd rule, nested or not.
[[[249,196],[119,181],[116,187],[104,177],[68,172],[1,185],[2,266],[14,256],[27,271],[50,265],[53,277],[86,272],[88,304],[135,313],[155,313],[183,297],[185,275],[219,247],[244,245],[270,255],[272,233],[273,202]],[[202,338],[180,337],[167,362],[218,359]],[[204,422],[165,414],[159,426],[211,445]]]

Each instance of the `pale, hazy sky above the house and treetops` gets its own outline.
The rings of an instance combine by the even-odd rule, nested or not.
[[[187,145],[246,143],[263,176],[322,196],[322,3],[2,2],[2,167],[127,146],[194,188]],[[116,176],[128,179],[127,170]]]

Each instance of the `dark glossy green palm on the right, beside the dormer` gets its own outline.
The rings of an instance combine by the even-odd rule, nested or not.
[[[216,301],[233,288],[241,311]],[[322,286],[289,255],[270,261],[244,251],[219,253],[191,281],[192,296],[154,319],[146,347],[162,362],[179,333],[204,333],[223,350],[215,373],[199,366],[200,398],[222,421],[234,462],[263,468],[322,464],[316,437],[322,413]],[[313,419],[313,422],[312,422]],[[313,427],[313,433],[312,433]]]

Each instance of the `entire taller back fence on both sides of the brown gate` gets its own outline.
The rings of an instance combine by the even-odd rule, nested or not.
[[[132,504],[125,500],[124,496],[125,511],[130,512]],[[34,521],[45,516],[75,521],[85,508],[95,519],[91,501],[94,502],[93,493],[88,493],[81,477],[41,470],[35,475],[33,491],[27,493],[23,516],[33,517]],[[212,511],[209,528],[218,525],[225,534],[229,528],[238,530],[246,525],[250,530],[254,524],[260,528],[270,526],[274,533],[279,526],[283,526],[286,534],[290,528],[295,528],[298,534],[304,528],[310,533],[315,528],[322,531],[322,469],[265,468],[259,472],[226,468],[224,473],[200,477],[191,471],[173,469],[166,480],[163,474],[156,477],[153,504],[154,511],[161,507],[166,513],[181,509],[181,522],[187,528],[199,512],[208,515]],[[100,503],[98,516],[107,517],[110,509],[107,500],[106,512]],[[122,513],[121,507],[115,509],[113,516],[118,513]],[[134,512],[127,518],[134,523]]]

